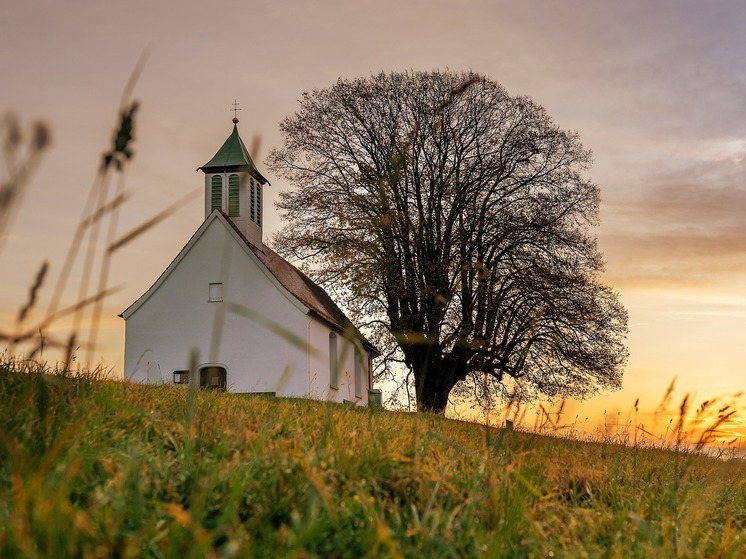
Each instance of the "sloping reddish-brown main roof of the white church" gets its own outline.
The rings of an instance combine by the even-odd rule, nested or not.
[[[355,325],[352,324],[344,311],[342,311],[332,298],[329,297],[329,294],[324,291],[324,288],[315,283],[306,274],[301,272],[267,245],[262,244],[261,247],[258,247],[251,243],[246,237],[244,237],[241,231],[239,231],[233,223],[233,220],[231,220],[224,212],[220,210],[216,211],[222,214],[226,223],[233,228],[264,267],[269,270],[280,285],[287,289],[293,297],[308,307],[309,311],[317,317],[330,323],[332,326],[336,326],[340,331],[359,339],[368,349],[379,354],[379,351],[365,339],[365,336],[363,336]]]

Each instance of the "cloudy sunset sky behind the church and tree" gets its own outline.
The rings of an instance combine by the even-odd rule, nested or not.
[[[0,320],[12,324],[42,260],[59,273],[144,53],[121,232],[203,188],[195,169],[230,133],[234,99],[267,175],[304,91],[382,70],[473,70],[532,97],[594,153],[604,281],[629,312],[630,359],[623,390],[566,415],[596,425],[638,398],[652,410],[673,379],[677,396],[727,400],[746,388],[744,24],[732,0],[3,0],[0,115],[42,119],[54,144],[0,246]],[[265,235],[290,187],[268,178]],[[122,289],[96,362],[121,370],[117,314],[203,217],[195,198],[117,254]],[[730,434],[746,440],[746,421]]]

